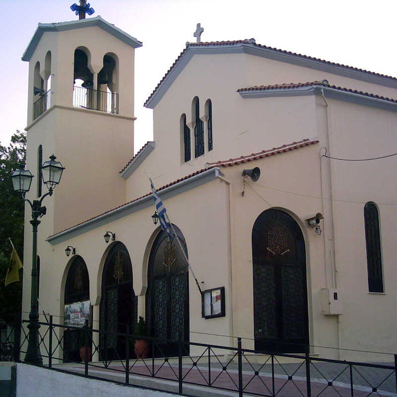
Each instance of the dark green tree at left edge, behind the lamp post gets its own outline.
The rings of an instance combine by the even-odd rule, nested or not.
[[[26,163],[26,132],[16,131],[8,147],[0,144],[0,315],[21,310],[22,281],[4,286],[12,247],[23,260],[24,201],[12,187],[11,174]],[[22,270],[20,270],[22,280]]]

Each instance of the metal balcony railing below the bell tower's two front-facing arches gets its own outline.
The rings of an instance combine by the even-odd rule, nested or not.
[[[119,94],[116,92],[73,87],[73,106],[101,112],[119,113]]]

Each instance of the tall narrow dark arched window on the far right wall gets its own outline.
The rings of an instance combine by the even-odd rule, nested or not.
[[[365,242],[367,246],[368,290],[384,292],[381,236],[378,208],[373,202],[364,205]]]

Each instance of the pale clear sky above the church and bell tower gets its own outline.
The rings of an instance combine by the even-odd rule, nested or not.
[[[78,19],[76,0],[0,0],[0,142],[26,127],[28,63],[21,61],[38,22]],[[78,1],[76,1],[78,3]],[[92,15],[143,42],[135,51],[134,151],[152,138],[144,101],[185,48],[196,41],[255,38],[258,44],[397,76],[396,1],[92,0]],[[288,83],[290,81],[282,81]],[[274,81],[274,83],[281,83]],[[258,81],[258,85],[262,84]],[[397,98],[395,98],[397,99]]]

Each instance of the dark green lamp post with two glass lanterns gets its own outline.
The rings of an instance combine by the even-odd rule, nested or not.
[[[52,196],[54,188],[59,184],[64,171],[64,167],[59,161],[56,161],[57,157],[50,156],[50,160],[46,161],[41,166],[41,174],[43,177],[43,183],[48,188],[48,193],[41,197],[40,200],[30,201],[25,199],[26,192],[30,189],[33,175],[29,170],[23,168],[13,172],[11,179],[16,192],[22,194],[22,198],[30,204],[32,209],[32,220],[30,221],[33,226],[33,240],[32,240],[32,285],[30,295],[30,313],[29,313],[29,338],[28,347],[25,355],[25,362],[35,365],[42,365],[43,359],[40,353],[39,347],[39,305],[38,305],[38,294],[37,294],[37,226],[41,223],[38,218],[41,218],[46,214],[47,208],[42,206],[43,199],[47,196]]]

